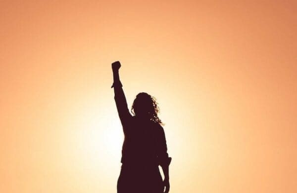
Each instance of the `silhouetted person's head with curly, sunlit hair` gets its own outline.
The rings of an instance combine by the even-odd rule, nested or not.
[[[156,99],[146,92],[141,92],[134,99],[131,112],[134,116],[150,119],[156,123],[163,124],[158,117],[159,107]]]

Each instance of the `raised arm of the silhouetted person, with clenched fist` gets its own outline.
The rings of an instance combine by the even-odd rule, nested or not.
[[[127,125],[132,118],[131,114],[128,110],[128,105],[126,101],[126,97],[124,94],[124,90],[122,88],[122,83],[120,81],[119,77],[119,69],[121,67],[121,64],[119,61],[116,61],[111,64],[112,67],[112,73],[113,73],[113,84],[111,88],[114,88],[114,100],[116,104],[116,108],[121,120],[121,123],[123,125],[124,133],[126,133]]]

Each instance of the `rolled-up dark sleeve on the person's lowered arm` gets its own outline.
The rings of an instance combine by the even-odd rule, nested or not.
[[[158,138],[157,138],[157,157],[160,166],[169,165],[171,162],[171,157],[168,156],[167,153],[167,144],[165,138],[165,132],[163,127],[160,125],[158,129]]]

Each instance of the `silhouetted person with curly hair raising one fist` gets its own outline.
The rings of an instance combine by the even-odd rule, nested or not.
[[[155,98],[145,92],[136,96],[129,113],[119,78],[120,62],[112,63],[114,99],[123,126],[124,143],[122,167],[117,193],[169,192],[169,164],[167,145]],[[158,166],[164,173],[162,180]]]

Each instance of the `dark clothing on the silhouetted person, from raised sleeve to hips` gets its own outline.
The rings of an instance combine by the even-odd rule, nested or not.
[[[162,193],[164,186],[158,165],[169,162],[163,127],[129,113],[121,82],[112,85],[123,126],[122,168],[118,193]]]

